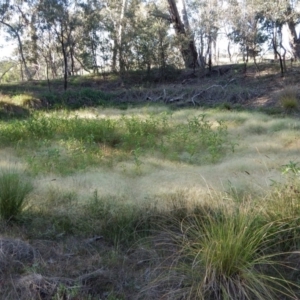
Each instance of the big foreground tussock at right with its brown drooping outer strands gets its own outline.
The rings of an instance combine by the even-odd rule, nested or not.
[[[285,195],[273,195],[277,203],[283,199]],[[288,212],[283,217],[281,209],[274,205],[266,210],[267,213],[240,202],[234,206],[220,203],[219,208],[213,209],[196,205],[192,212],[186,210],[188,213],[181,215],[180,222],[176,214],[170,214],[169,220],[180,223],[180,231],[169,231],[171,237],[162,242],[162,248],[170,249],[171,244],[173,250],[166,250],[168,256],[154,271],[155,279],[145,288],[144,296],[217,300],[297,298],[296,266],[289,259],[299,249],[299,217]],[[162,226],[168,232],[166,223]]]

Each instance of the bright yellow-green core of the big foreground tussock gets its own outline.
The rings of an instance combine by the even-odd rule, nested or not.
[[[281,228],[274,227],[263,225],[257,213],[240,210],[225,210],[221,217],[204,213],[188,218],[174,267],[178,277],[182,273],[184,287],[176,299],[295,297],[279,273],[283,253],[274,253],[272,246],[274,231]]]

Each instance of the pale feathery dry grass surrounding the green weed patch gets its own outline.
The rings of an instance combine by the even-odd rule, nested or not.
[[[166,108],[144,108],[126,111],[127,115],[146,115],[153,112],[166,112]],[[168,112],[168,111],[167,111]],[[98,110],[78,111],[79,117],[93,117]],[[102,110],[103,118],[120,118],[123,111]],[[187,116],[199,115],[199,110],[180,110],[172,113],[171,122],[175,125],[186,120]],[[140,172],[137,173],[134,161],[121,161],[112,167],[97,167],[61,176],[58,174],[38,175],[35,179],[37,199],[48,193],[49,188],[58,191],[73,191],[79,201],[85,201],[94,190],[101,195],[114,196],[125,201],[145,204],[157,194],[178,189],[191,189],[199,195],[207,194],[208,187],[216,191],[227,191],[228,184],[237,189],[247,187],[252,192],[268,189],[271,179],[280,180],[280,166],[288,161],[297,161],[300,148],[300,122],[289,118],[273,118],[260,113],[205,111],[211,121],[223,120],[228,124],[234,153],[228,153],[217,164],[192,165],[174,162],[143,153],[140,157]],[[1,149],[0,165],[26,167],[24,158],[11,149]]]

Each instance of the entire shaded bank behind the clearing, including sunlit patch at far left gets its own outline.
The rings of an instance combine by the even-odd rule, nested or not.
[[[114,74],[71,76],[69,93],[63,99],[58,99],[64,93],[61,80],[32,81],[2,86],[1,105],[17,114],[24,113],[22,108],[26,107],[51,108],[54,104],[59,107],[59,102],[70,108],[109,104],[125,109],[163,103],[171,107],[259,108],[276,113],[280,106],[278,92],[285,87],[297,87],[299,77],[298,63],[287,63],[284,76],[278,63],[248,64],[246,71],[239,64],[214,67],[210,73],[170,69],[164,75],[153,71],[148,76],[144,72],[130,72],[122,79]],[[82,90],[101,91],[105,99],[95,103],[92,95],[78,96]]]

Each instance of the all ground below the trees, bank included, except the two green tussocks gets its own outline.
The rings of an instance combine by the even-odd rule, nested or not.
[[[198,254],[193,260],[182,248],[191,238],[185,220],[195,225],[190,215],[224,222],[220,210],[252,215],[258,207],[257,224],[277,220],[278,211],[290,222],[285,204],[295,205],[292,214],[300,207],[299,106],[280,100],[291,91],[300,105],[300,69],[288,66],[281,77],[277,65],[258,68],[171,71],[163,82],[137,73],[78,76],[67,92],[59,80],[0,85],[1,170],[34,185],[20,217],[0,221],[1,299],[197,299],[209,279],[190,274]],[[286,254],[277,248],[289,226],[280,223],[270,246],[280,252],[282,277],[296,278],[295,294],[262,299],[300,295],[295,222]],[[227,283],[214,280],[206,299],[221,299],[216,290]]]

